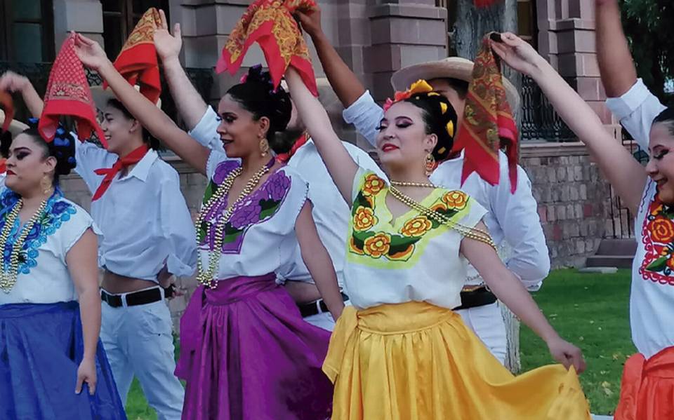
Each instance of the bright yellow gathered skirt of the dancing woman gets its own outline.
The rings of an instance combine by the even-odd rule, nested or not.
[[[347,306],[323,371],[333,420],[590,420],[575,370],[515,377],[461,316],[421,302]]]

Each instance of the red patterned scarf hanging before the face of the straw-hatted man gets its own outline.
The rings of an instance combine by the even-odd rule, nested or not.
[[[508,156],[510,191],[517,188],[517,124],[505,98],[501,63],[491,51],[489,36],[475,59],[473,81],[465,98],[463,121],[454,142],[453,152],[465,149],[461,183],[473,172],[495,185],[500,181],[498,150]]]

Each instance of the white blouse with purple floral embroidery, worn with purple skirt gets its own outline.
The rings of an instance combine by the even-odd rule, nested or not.
[[[206,165],[210,181],[204,203],[239,165],[225,154],[211,151]],[[297,246],[295,222],[307,201],[307,194],[307,182],[296,170],[284,166],[272,172],[256,191],[240,202],[225,224],[218,279],[263,276],[290,264]],[[227,206],[228,197],[223,196],[199,226],[197,247],[204,267],[209,266],[209,251],[215,246],[216,222]]]

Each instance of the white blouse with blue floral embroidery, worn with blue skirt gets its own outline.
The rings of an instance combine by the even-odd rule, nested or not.
[[[18,200],[18,194],[10,189],[1,190],[0,231]],[[17,218],[3,250],[4,271],[8,271],[10,266],[11,245],[19,235],[19,223]],[[0,289],[0,304],[48,304],[76,300],[77,292],[65,257],[89,228],[98,230],[91,216],[64,198],[57,189],[47,202],[44,217],[33,225],[25,239],[15,285],[9,292]]]

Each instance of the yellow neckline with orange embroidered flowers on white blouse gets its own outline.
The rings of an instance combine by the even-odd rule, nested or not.
[[[415,254],[423,253],[425,243],[447,230],[447,226],[409,210],[392,219],[385,203],[388,187],[374,173],[364,176],[351,210],[351,235],[348,250],[352,255],[376,260],[407,262]],[[448,217],[462,217],[470,209],[468,196],[463,191],[435,189],[421,203]],[[380,217],[385,220],[380,220]],[[392,222],[392,223],[391,223]]]

